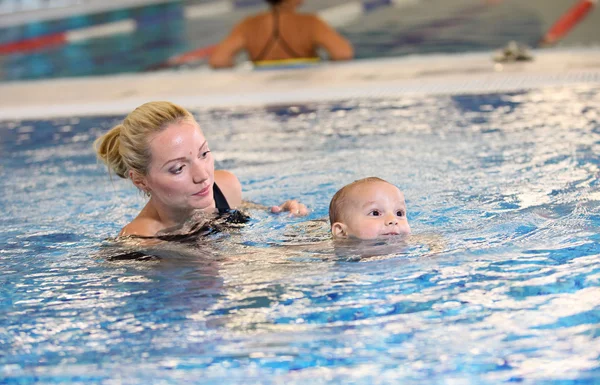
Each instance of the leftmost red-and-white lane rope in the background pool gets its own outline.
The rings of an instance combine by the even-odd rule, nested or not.
[[[65,32],[0,44],[0,55],[30,52],[68,43],[77,43],[89,39],[132,33],[136,29],[137,23],[133,19],[125,19],[112,23],[99,24],[92,27],[72,29]]]

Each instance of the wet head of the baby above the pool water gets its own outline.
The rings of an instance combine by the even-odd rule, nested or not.
[[[404,194],[376,177],[357,180],[336,192],[329,204],[329,220],[334,238],[410,234]]]

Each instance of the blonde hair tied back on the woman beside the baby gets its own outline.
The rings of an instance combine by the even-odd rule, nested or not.
[[[127,178],[129,170],[146,175],[151,160],[148,137],[184,120],[195,121],[189,111],[176,104],[143,104],[129,113],[121,124],[96,139],[96,154],[121,178]]]

